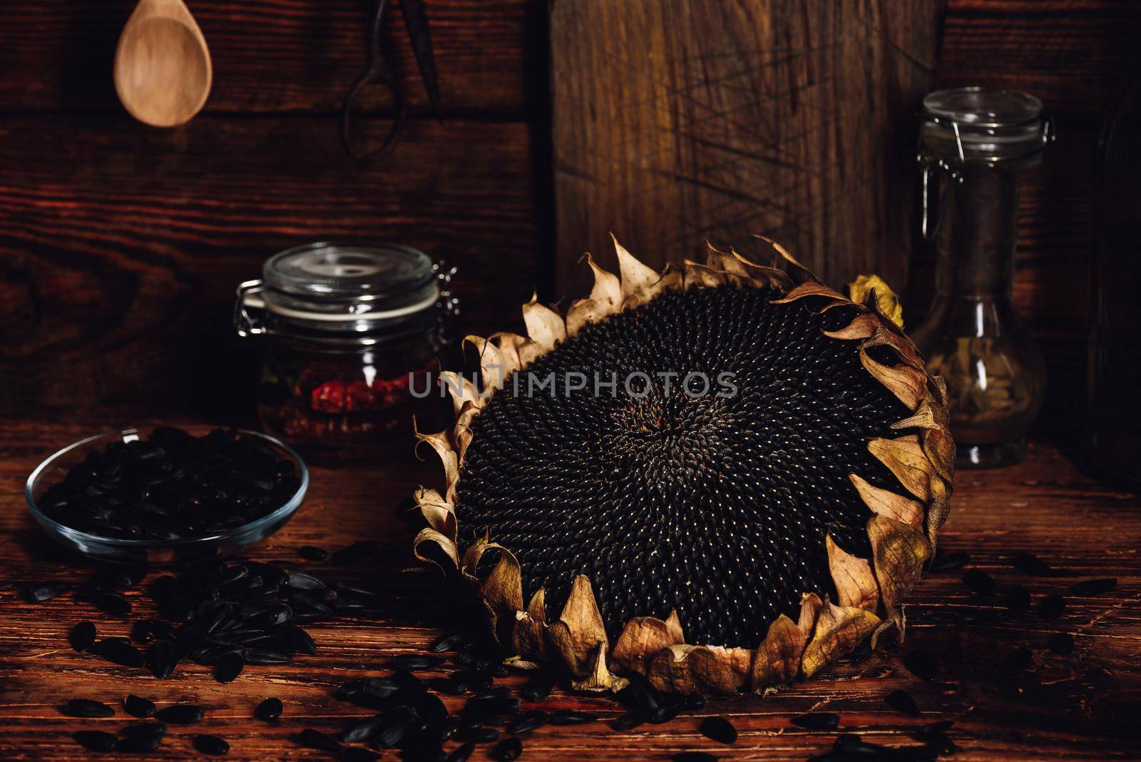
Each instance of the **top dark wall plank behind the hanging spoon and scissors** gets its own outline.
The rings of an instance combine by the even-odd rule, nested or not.
[[[210,112],[339,110],[364,70],[371,2],[274,0],[188,3],[215,66]],[[0,8],[3,111],[115,111],[115,43],[135,0],[6,2]],[[388,19],[396,70],[411,106],[428,107],[398,3]],[[520,114],[526,0],[427,3],[443,106]]]

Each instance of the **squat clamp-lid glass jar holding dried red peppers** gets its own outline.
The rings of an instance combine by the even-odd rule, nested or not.
[[[265,337],[262,428],[310,459],[407,452],[413,414],[440,415],[439,395],[412,392],[451,342],[451,275],[387,243],[315,243],[266,260],[234,308],[238,335]]]

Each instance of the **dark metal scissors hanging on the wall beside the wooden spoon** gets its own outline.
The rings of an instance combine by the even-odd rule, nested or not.
[[[388,0],[378,0],[377,2],[377,13],[372,19],[369,39],[369,63],[345,96],[345,108],[341,112],[341,143],[345,145],[345,151],[357,161],[378,159],[391,151],[400,137],[404,117],[407,115],[404,88],[393,73],[388,55],[383,49],[381,32],[387,5]],[[400,9],[404,11],[404,23],[408,27],[408,39],[412,41],[412,51],[416,56],[416,65],[420,67],[420,78],[423,80],[424,90],[428,91],[428,100],[431,103],[437,119],[443,120],[439,110],[439,83],[436,80],[436,57],[431,50],[431,33],[428,29],[428,13],[424,9],[423,0],[402,0]],[[379,145],[362,151],[353,140],[353,112],[361,94],[370,84],[381,84],[391,94],[393,125]]]

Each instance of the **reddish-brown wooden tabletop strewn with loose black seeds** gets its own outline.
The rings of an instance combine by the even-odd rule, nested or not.
[[[43,577],[78,581],[89,572],[87,564],[55,546],[33,524],[23,486],[42,457],[97,430],[91,423],[0,422],[0,759],[94,757],[70,735],[80,729],[114,731],[132,719],[119,710],[108,720],[74,720],[56,707],[78,696],[118,704],[128,692],[160,704],[193,700],[208,708],[200,725],[172,725],[157,757],[196,757],[192,737],[211,732],[230,743],[226,759],[323,759],[319,752],[297,747],[288,736],[306,727],[337,731],[346,718],[367,714],[330,694],[346,680],[380,673],[393,655],[423,649],[446,622],[448,600],[436,578],[402,573],[411,565],[408,529],[394,510],[412,486],[431,483],[434,464],[408,457],[373,467],[313,468],[300,512],[250,553],[300,562],[296,549],[304,544],[334,550],[374,538],[381,552],[373,566],[331,570],[329,576],[357,576],[379,584],[385,591],[379,616],[313,625],[315,656],[300,656],[288,666],[251,666],[229,684],[215,682],[207,667],[192,663],[160,681],[144,670],[76,654],[67,645],[67,631],[84,618],[104,635],[127,634],[130,622],[149,606],[136,590],[128,592],[135,601],[132,619],[102,614],[71,594],[44,603],[26,603],[18,595],[23,583]],[[953,719],[950,736],[958,751],[944,759],[1141,757],[1141,498],[1100,486],[1045,444],[1031,446],[1021,465],[961,472],[955,487],[941,546],[969,551],[971,566],[989,572],[1000,585],[1025,584],[1035,606],[1044,593],[1066,593],[1060,619],[1045,622],[1035,608],[1010,615],[998,599],[974,597],[962,584],[961,573],[932,575],[912,595],[905,643],[892,641],[860,663],[840,664],[764,699],[710,700],[698,715],[731,719],[739,731],[733,746],[704,738],[697,732],[699,716],[682,715],[669,724],[628,732],[602,723],[544,727],[524,738],[523,759],[669,759],[702,749],[720,759],[803,760],[831,749],[836,735],[790,724],[790,718],[808,711],[837,712],[842,731],[887,745],[914,744],[906,735],[909,729]],[[1117,589],[1092,597],[1068,594],[1074,578],[1031,577],[1011,568],[1010,557],[1021,550],[1082,577],[1116,577]],[[994,616],[985,623],[960,624],[964,611]],[[1060,656],[1045,648],[1055,632],[1074,635],[1074,654]],[[998,664],[1020,646],[1033,650],[1034,666],[1017,680],[1001,678]],[[936,681],[924,682],[905,670],[901,658],[912,649],[939,655]],[[922,716],[905,716],[884,703],[897,688],[915,697]],[[285,713],[275,724],[251,719],[253,707],[267,696],[285,702]],[[462,703],[444,698],[452,708]],[[544,705],[552,707],[608,716],[618,712],[609,699],[564,691],[552,694]],[[480,747],[472,759],[486,759],[486,752]],[[396,752],[386,754],[395,757]]]

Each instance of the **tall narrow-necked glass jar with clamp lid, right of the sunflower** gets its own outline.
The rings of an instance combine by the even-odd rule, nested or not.
[[[939,90],[923,108],[922,233],[936,242],[936,294],[911,335],[947,381],[960,465],[1018,462],[1046,382],[1012,302],[1018,184],[1053,130],[1037,98],[1011,90]]]

